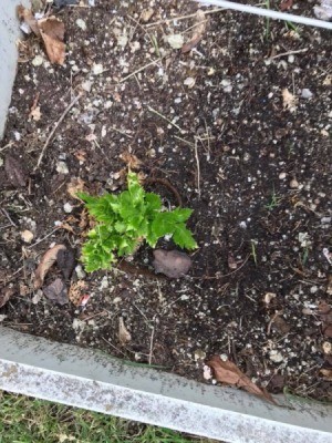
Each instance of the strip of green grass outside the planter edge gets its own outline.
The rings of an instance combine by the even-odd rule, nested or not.
[[[200,437],[0,391],[0,443],[208,443]]]

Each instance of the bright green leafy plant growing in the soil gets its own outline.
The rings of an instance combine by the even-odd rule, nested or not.
[[[197,247],[186,227],[193,209],[164,212],[160,197],[146,193],[133,172],[128,173],[127,185],[127,190],[118,195],[105,193],[93,197],[85,193],[77,194],[96,222],[82,247],[81,259],[87,272],[111,269],[118,257],[134,254],[144,240],[155,247],[165,235],[172,235],[180,248]]]

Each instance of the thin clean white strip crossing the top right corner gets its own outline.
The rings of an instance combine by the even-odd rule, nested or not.
[[[290,21],[293,23],[308,24],[310,27],[324,28],[324,29],[332,30],[332,22],[324,21],[324,20],[318,20],[318,19],[311,19],[309,17],[303,17],[303,16],[295,16],[295,14],[290,14],[290,13],[286,13],[286,12],[279,12],[279,11],[274,11],[272,9],[251,7],[249,4],[235,3],[234,1],[226,1],[226,0],[196,0],[196,1],[201,4],[205,4],[205,6],[215,6],[215,7],[220,7],[220,8],[225,8],[225,9],[232,9],[235,11],[249,12],[249,13],[253,13],[256,16],[268,17],[270,19],[284,20],[284,21]]]

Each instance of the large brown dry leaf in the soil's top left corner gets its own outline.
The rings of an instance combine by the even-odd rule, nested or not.
[[[51,63],[63,64],[65,59],[64,24],[56,17],[51,16],[38,21],[38,27],[43,39]]]

